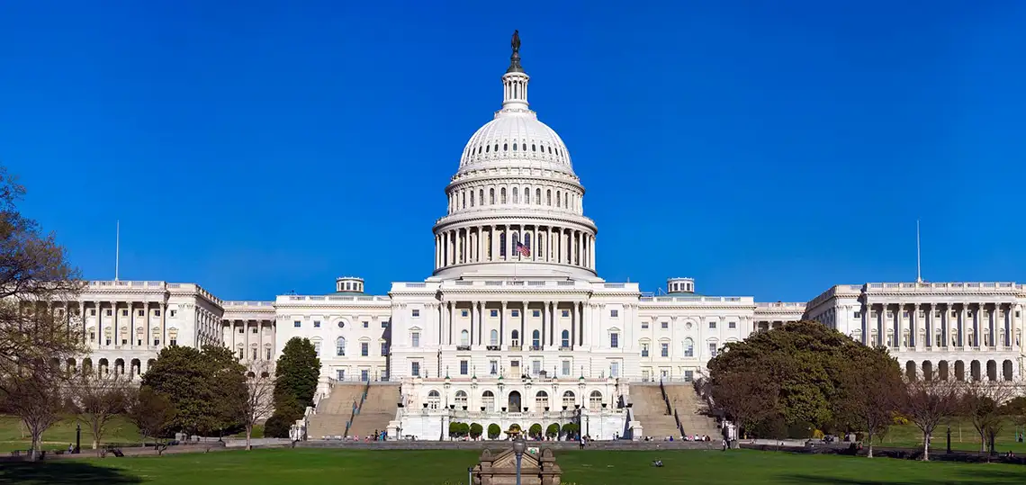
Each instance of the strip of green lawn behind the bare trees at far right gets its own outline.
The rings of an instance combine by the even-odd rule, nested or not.
[[[1012,450],[1016,454],[1026,454],[1026,443],[1015,441],[1016,426],[1008,421],[1001,433],[997,436],[996,447],[999,452]],[[943,451],[947,446],[947,427],[941,425],[934,432],[934,439],[931,441],[931,448]],[[921,447],[922,432],[915,425],[904,425],[892,427],[882,440],[876,445],[900,446],[900,447]],[[973,428],[973,422],[969,420],[954,420],[951,422],[951,449],[964,451],[980,450],[980,435]]]

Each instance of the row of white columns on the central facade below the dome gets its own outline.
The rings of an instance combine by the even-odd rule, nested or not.
[[[562,346],[562,335],[557,335],[556,333],[561,333],[561,330],[556,328],[556,312],[561,310],[569,310],[570,318],[570,328],[569,330],[569,348],[574,349],[577,346],[583,346],[585,341],[585,328],[588,327],[586,320],[588,318],[588,312],[584,311],[584,304],[580,301],[575,301],[571,304],[569,309],[563,309],[559,307],[556,301],[499,301],[499,328],[498,330],[499,338],[496,343],[492,343],[490,339],[490,330],[488,328],[485,330],[484,325],[484,312],[487,310],[496,310],[495,307],[489,307],[488,302],[485,301],[456,301],[446,300],[442,301],[438,307],[438,334],[440,336],[439,343],[443,346],[462,346],[460,335],[464,328],[455,328],[453,322],[456,322],[456,312],[458,310],[467,310],[466,305],[470,306],[470,328],[466,328],[469,333],[468,346],[499,346],[502,349],[504,346],[509,346],[509,350],[518,350],[519,347],[523,349],[526,347],[529,350],[544,350],[546,347],[557,347]],[[519,310],[519,317],[510,317],[507,321],[507,311],[508,310]],[[541,328],[528,328],[527,325],[527,315],[528,312],[535,310],[541,311],[542,324]],[[517,341],[513,342],[513,331],[517,331]],[[539,330],[539,341],[538,349],[532,349],[535,347],[534,342],[534,331]]]

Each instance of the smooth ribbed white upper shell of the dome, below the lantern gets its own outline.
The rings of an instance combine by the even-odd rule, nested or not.
[[[559,135],[534,112],[500,111],[464,148],[460,172],[492,167],[543,168],[574,173]]]

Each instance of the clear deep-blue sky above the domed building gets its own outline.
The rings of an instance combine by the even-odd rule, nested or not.
[[[609,281],[807,300],[1026,280],[1026,3],[0,4],[0,163],[85,277],[430,275],[519,29]]]

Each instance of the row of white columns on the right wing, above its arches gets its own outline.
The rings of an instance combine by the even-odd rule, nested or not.
[[[973,316],[969,317],[968,313],[974,309]],[[1003,317],[1000,315],[1002,310]],[[907,322],[905,311],[909,312]],[[920,311],[924,318],[919,317]],[[953,320],[952,311],[956,312]],[[1020,329],[1016,313],[1021,311],[1022,305],[1019,304],[868,304],[862,312],[862,341],[902,351],[934,347],[954,347],[965,351],[1019,348]],[[891,312],[890,318],[887,312]],[[939,321],[935,315],[937,312],[940,313]],[[871,336],[874,329],[875,341]],[[887,330],[892,331],[894,338],[891,341],[887,341]],[[924,338],[920,338],[920,330]],[[906,331],[908,340],[904,337]],[[941,335],[940,342],[936,339],[937,334]]]

